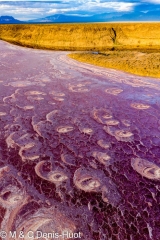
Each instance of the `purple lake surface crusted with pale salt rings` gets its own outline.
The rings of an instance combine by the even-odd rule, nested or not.
[[[159,240],[159,80],[0,49],[1,240]]]

